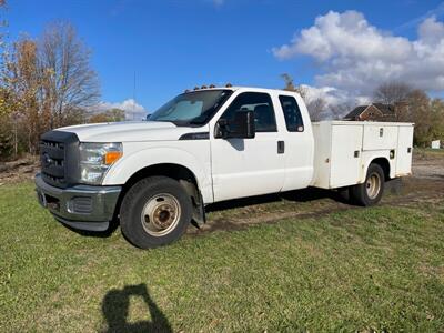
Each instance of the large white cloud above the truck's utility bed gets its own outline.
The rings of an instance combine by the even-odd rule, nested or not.
[[[423,20],[417,39],[410,40],[377,29],[361,12],[330,11],[273,53],[280,60],[314,59],[321,70],[316,87],[330,99],[365,98],[384,81],[444,90],[444,23],[435,17]]]

